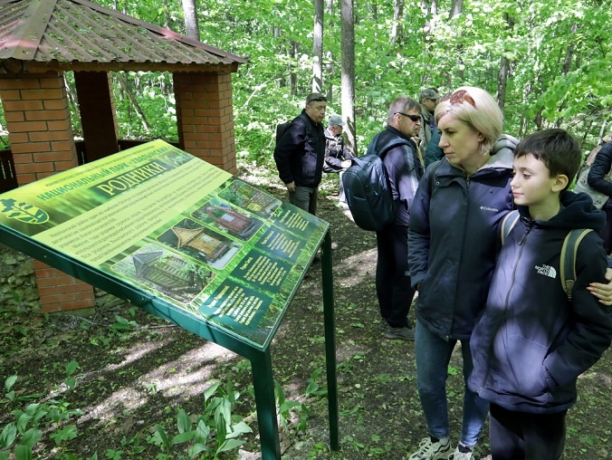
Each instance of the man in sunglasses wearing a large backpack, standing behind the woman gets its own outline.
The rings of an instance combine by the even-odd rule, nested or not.
[[[383,158],[391,194],[398,205],[395,220],[376,234],[376,292],[383,334],[391,340],[415,337],[414,330],[408,327],[408,312],[415,296],[408,274],[408,223],[418,180],[423,175],[423,165],[412,140],[420,126],[421,106],[406,96],[399,97],[389,106],[387,127],[375,146],[379,150],[397,138],[407,139],[411,145],[390,149]]]

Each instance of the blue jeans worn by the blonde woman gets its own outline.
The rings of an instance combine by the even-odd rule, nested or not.
[[[429,436],[448,437],[448,406],[446,378],[448,364],[457,340],[444,340],[429,331],[421,321],[416,321],[416,384],[421,407],[425,412]],[[467,379],[473,369],[470,341],[461,340],[464,357],[464,420],[461,443],[475,446],[489,411],[489,403],[467,388]]]

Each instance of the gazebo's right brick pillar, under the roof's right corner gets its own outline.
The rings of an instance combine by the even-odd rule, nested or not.
[[[236,172],[232,74],[173,74],[181,149]]]

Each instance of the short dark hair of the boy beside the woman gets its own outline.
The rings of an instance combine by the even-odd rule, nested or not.
[[[550,177],[566,175],[569,179],[567,187],[574,180],[582,161],[579,143],[565,129],[544,129],[522,139],[514,150],[514,158],[528,154],[546,165]]]

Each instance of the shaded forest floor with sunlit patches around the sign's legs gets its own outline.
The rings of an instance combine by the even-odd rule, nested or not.
[[[285,197],[283,188],[258,176],[255,168],[241,177]],[[379,330],[375,235],[360,230],[348,212],[336,206],[336,184],[337,177],[325,178],[318,214],[330,223],[334,242],[340,450],[330,452],[327,399],[312,391],[313,383],[325,386],[320,264],[313,264],[271,347],[274,379],[284,397],[304,404],[281,418],[287,423],[281,428],[282,457],[401,460],[426,436],[416,393],[415,346],[411,341],[386,340]],[[128,323],[118,322],[118,317]],[[0,384],[18,376],[13,389],[20,401],[0,397],[0,431],[14,419],[11,411],[23,409],[24,400],[54,403],[64,414],[81,410],[63,425],[43,430],[34,458],[89,459],[94,453],[99,459],[115,460],[188,458],[185,445],[170,452],[160,449],[154,443],[155,426],[164,426],[170,438],[176,436],[178,409],[192,416],[202,414],[206,388],[223,384],[228,377],[234,391],[241,393],[234,413],[246,417],[253,434],[240,436],[246,440],[244,446],[220,458],[260,458],[248,360],[123,302],[83,318],[73,314],[45,318],[32,311],[5,312],[4,318]],[[72,360],[79,367],[72,374],[76,384],[69,388],[62,382]],[[461,369],[457,347],[448,369],[454,444],[461,420]],[[579,379],[579,402],[569,410],[564,458],[612,458],[611,386],[608,350]],[[299,432],[299,418],[307,413],[307,428]],[[75,427],[76,436],[58,426]],[[474,459],[489,454],[487,438],[485,428]],[[0,456],[1,440],[2,436]]]

